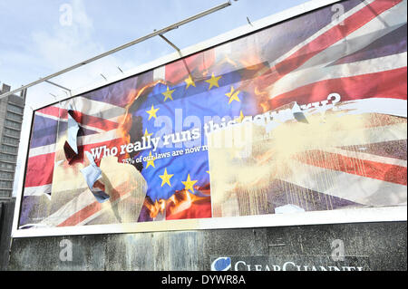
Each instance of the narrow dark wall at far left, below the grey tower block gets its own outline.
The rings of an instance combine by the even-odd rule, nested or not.
[[[15,199],[0,203],[0,271],[7,268]]]

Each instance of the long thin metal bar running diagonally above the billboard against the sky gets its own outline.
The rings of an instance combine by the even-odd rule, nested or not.
[[[81,63],[77,63],[77,64],[74,64],[73,66],[67,67],[67,68],[63,69],[62,71],[55,72],[53,74],[45,76],[44,78],[41,78],[38,81],[31,82],[31,83],[28,83],[26,85],[23,85],[21,88],[15,90],[15,91],[5,92],[4,94],[0,95],[0,100],[5,98],[8,95],[15,94],[16,92],[21,92],[22,90],[24,90],[26,88],[32,87],[32,86],[34,86],[36,84],[39,84],[41,82],[48,81],[48,80],[50,80],[50,79],[52,79],[52,78],[54,78],[54,77],[56,77],[58,75],[61,75],[61,74],[65,73],[65,72],[70,72],[70,71],[72,71],[72,70],[74,70],[76,68],[79,68],[79,67],[81,67],[81,66],[83,66],[85,64],[97,61],[97,60],[99,60],[99,59],[101,59],[101,58],[103,58],[105,56],[108,56],[108,55],[110,55],[112,53],[117,53],[117,52],[119,52],[119,51],[121,51],[121,50],[123,50],[125,48],[131,47],[132,45],[134,45],[136,43],[141,43],[143,41],[146,41],[146,40],[148,40],[148,39],[150,39],[150,38],[152,38],[154,36],[160,35],[160,34],[165,34],[165,33],[169,32],[171,30],[179,28],[181,25],[188,24],[188,23],[190,23],[190,22],[192,22],[194,20],[197,20],[197,19],[199,19],[199,18],[201,18],[203,16],[206,16],[208,14],[212,14],[212,13],[214,13],[216,11],[219,11],[220,9],[228,7],[229,5],[231,5],[230,1],[228,1],[228,2],[226,2],[224,4],[221,4],[221,5],[217,5],[217,6],[211,8],[209,10],[206,10],[206,11],[203,11],[203,12],[201,12],[199,14],[195,14],[193,16],[190,16],[189,18],[184,19],[184,20],[182,20],[182,21],[180,21],[178,23],[171,24],[170,26],[162,28],[162,29],[160,29],[158,31],[155,31],[155,32],[151,33],[151,34],[147,34],[145,36],[142,36],[141,38],[138,38],[136,40],[131,41],[130,43],[126,43],[126,44],[123,44],[123,45],[121,45],[119,47],[116,47],[116,48],[114,48],[114,49],[112,49],[110,51],[107,51],[106,53],[96,55],[96,56],[94,56],[94,57],[92,57],[90,59],[87,59],[87,60],[85,60],[85,61],[83,61]]]

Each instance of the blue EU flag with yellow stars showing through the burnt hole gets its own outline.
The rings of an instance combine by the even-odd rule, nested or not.
[[[194,73],[189,73],[184,81],[174,85],[159,82],[138,100],[141,103],[132,117],[141,120],[144,136],[160,138],[158,149],[141,151],[143,159],[156,157],[145,159],[141,170],[148,183],[147,195],[153,202],[166,200],[181,190],[205,195],[203,188],[209,187],[209,161],[208,151],[202,147],[207,144],[204,124],[209,120],[218,123],[223,117],[234,120],[242,113],[256,113],[253,98],[239,90],[242,71],[234,69],[232,65],[223,65],[221,69],[218,67],[217,71],[222,72],[218,75],[209,71],[205,77],[193,77]],[[186,130],[199,131],[200,138],[179,142],[186,139],[177,133]],[[163,137],[171,134],[174,135],[167,144]],[[194,152],[186,153],[186,149]],[[134,159],[137,157],[140,155]]]

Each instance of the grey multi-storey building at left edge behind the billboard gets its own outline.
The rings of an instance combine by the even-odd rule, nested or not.
[[[10,86],[3,83],[0,94],[5,92],[10,92]],[[21,95],[9,95],[0,100],[0,200],[13,194],[25,95],[23,91]]]

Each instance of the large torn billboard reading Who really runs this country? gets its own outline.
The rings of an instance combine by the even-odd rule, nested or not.
[[[15,236],[406,219],[406,1],[299,9],[35,110]]]

